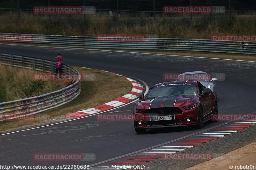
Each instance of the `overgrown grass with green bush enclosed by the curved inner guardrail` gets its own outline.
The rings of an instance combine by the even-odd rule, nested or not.
[[[35,82],[33,81],[35,73],[28,69],[0,65],[0,102],[33,97],[68,85],[68,82],[60,81]]]

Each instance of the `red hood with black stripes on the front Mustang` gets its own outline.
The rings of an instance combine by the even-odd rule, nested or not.
[[[152,100],[142,100],[137,103],[136,108],[174,107],[176,105],[188,106],[196,99],[196,96],[165,96],[156,97]],[[148,108],[147,108],[148,107]]]

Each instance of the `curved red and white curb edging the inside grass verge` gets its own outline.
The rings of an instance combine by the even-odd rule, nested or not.
[[[85,68],[85,67],[83,67]],[[97,70],[97,69],[95,69]],[[100,71],[105,71],[105,70],[100,70]],[[113,72],[109,72],[109,71],[105,71],[108,73],[112,73],[115,74],[117,76],[122,76],[120,74],[116,74]],[[115,107],[119,107],[121,105],[124,105],[134,99],[137,99],[138,96],[143,92],[143,85],[140,84],[139,82],[137,82],[136,80],[132,79],[132,78],[128,78],[126,76],[122,76],[124,78],[126,78],[127,80],[129,80],[132,84],[132,91],[129,92],[128,94],[121,96],[120,98],[110,101],[108,103],[104,103],[102,105],[99,106],[95,106],[89,109],[85,109],[85,110],[81,110],[81,111],[77,111],[74,113],[70,113],[68,115],[65,115],[66,117],[73,117],[73,118],[80,118],[80,117],[84,117],[84,116],[88,116],[88,115],[92,115],[92,114],[96,114],[102,111],[106,111]],[[60,118],[63,118],[62,116]],[[58,120],[58,118],[56,118],[55,120]]]

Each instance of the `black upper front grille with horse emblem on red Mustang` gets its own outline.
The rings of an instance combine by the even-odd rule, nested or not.
[[[143,113],[145,116],[166,116],[166,115],[178,115],[182,114],[182,110],[178,107],[157,107],[152,109],[146,109]]]

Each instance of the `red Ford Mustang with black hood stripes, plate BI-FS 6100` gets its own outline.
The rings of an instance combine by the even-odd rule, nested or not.
[[[149,128],[196,125],[218,114],[212,91],[197,81],[172,81],[154,85],[147,96],[140,94],[134,108],[134,128],[145,133]]]

